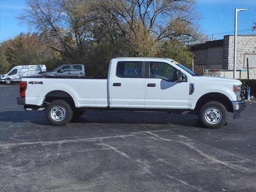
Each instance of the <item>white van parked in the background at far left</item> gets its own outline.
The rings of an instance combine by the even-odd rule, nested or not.
[[[20,81],[22,77],[38,76],[39,72],[46,71],[45,65],[20,65],[12,68],[7,74],[1,76],[1,83]]]

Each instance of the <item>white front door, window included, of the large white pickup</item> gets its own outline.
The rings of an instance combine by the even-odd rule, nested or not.
[[[189,80],[184,74],[184,82],[174,82],[176,69],[165,62],[147,62],[145,108],[188,109]]]

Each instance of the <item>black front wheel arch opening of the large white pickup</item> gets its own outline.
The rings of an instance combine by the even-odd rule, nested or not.
[[[228,98],[228,96],[226,96],[225,94],[222,93],[218,93],[218,92],[210,92],[210,93],[206,93],[203,96],[201,96],[198,101],[196,102],[196,107],[195,110],[197,112],[199,112],[200,108],[209,101],[217,101],[222,103],[226,109],[228,110],[228,112],[233,112],[233,107],[232,107],[232,103],[230,101],[230,99]]]

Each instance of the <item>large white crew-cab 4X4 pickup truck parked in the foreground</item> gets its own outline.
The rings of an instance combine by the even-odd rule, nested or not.
[[[245,102],[239,80],[199,76],[168,58],[114,58],[108,77],[30,76],[20,82],[17,103],[46,110],[62,126],[86,110],[164,111],[196,114],[206,128],[240,118]]]

